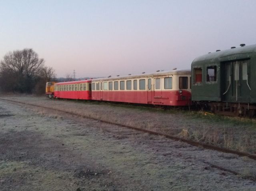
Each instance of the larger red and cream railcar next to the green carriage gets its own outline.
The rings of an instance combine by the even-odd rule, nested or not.
[[[92,99],[154,105],[191,103],[190,70],[117,76],[92,80]]]

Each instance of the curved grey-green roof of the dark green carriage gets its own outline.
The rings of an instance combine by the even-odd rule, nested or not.
[[[205,54],[203,56],[199,56],[199,57],[195,58],[193,60],[192,64],[194,62],[218,59],[218,58],[225,57],[225,56],[232,56],[235,54],[243,54],[243,53],[255,53],[256,54],[256,44],[249,45],[249,46],[241,46],[241,47],[237,47],[237,48],[231,48],[228,50],[221,50],[221,51]]]

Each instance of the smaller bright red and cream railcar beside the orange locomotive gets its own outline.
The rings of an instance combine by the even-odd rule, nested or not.
[[[54,97],[66,99],[91,99],[92,80],[59,82],[54,84]]]

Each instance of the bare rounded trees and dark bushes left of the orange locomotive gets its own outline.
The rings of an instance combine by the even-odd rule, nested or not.
[[[43,94],[46,82],[56,77],[52,67],[44,65],[44,59],[32,49],[7,53],[0,62],[1,92]]]

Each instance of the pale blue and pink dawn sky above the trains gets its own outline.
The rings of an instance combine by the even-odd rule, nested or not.
[[[66,77],[190,68],[256,44],[256,0],[0,0],[0,60],[32,48]]]

